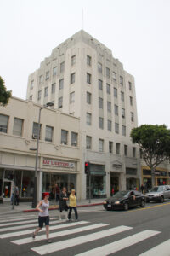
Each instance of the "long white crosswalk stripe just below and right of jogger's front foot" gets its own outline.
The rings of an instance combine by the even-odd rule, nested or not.
[[[99,232],[94,232],[93,234],[88,234],[85,236],[78,236],[76,238],[72,238],[66,241],[58,241],[54,242],[52,244],[44,245],[41,247],[33,247],[31,248],[32,251],[40,254],[40,255],[45,255],[46,253],[54,253],[59,250],[68,248],[68,247],[74,247],[77,245],[80,245],[82,243],[88,242],[88,241],[94,241],[97,239],[101,239],[107,236],[112,236],[117,233],[121,233],[126,230],[132,230],[132,227],[127,227],[127,226],[119,226],[116,228],[112,228],[109,230],[102,230]]]

